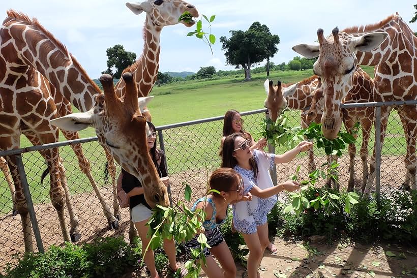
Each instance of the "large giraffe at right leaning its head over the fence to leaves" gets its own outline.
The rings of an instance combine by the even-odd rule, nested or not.
[[[333,36],[332,36],[333,35]],[[329,38],[318,29],[319,45],[296,45],[292,49],[306,57],[317,57],[314,71],[323,78],[325,96],[322,131],[326,138],[335,138],[340,129],[339,105],[350,89],[356,65],[375,66],[375,101],[406,101],[417,99],[417,37],[398,15],[379,23],[355,26],[339,33],[336,27]],[[417,108],[405,105],[396,108],[401,118],[407,146],[406,176],[403,186],[417,189],[415,143],[417,137]],[[381,133],[384,141],[392,107],[381,107]],[[364,195],[369,195],[375,178],[375,149]]]

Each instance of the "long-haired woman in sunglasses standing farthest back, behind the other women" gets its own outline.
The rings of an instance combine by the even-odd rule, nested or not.
[[[243,129],[243,119],[241,117],[241,114],[238,111],[232,109],[228,110],[224,115],[223,137],[221,139],[220,149],[221,146],[223,146],[224,139],[226,139],[227,136],[235,132],[240,133],[243,137],[251,141],[251,149],[261,149],[266,146],[265,138],[261,138],[258,142],[255,143],[255,140],[253,140],[252,135]]]

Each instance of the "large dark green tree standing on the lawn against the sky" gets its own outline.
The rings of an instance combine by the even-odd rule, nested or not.
[[[269,59],[278,51],[278,35],[272,35],[266,25],[254,22],[245,32],[231,30],[230,38],[220,37],[222,50],[226,50],[226,63],[236,69],[242,67],[245,70],[245,80],[251,79],[252,65],[259,64],[264,59]]]

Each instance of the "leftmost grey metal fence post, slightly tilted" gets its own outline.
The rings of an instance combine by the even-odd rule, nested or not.
[[[44,253],[41,233],[39,231],[38,220],[36,219],[35,209],[33,207],[33,201],[31,191],[29,190],[29,184],[27,183],[26,173],[24,171],[23,161],[21,155],[16,155],[17,170],[19,171],[20,182],[22,183],[24,197],[26,198],[27,209],[29,210],[29,216],[31,217],[32,229],[35,234],[36,245],[38,251]]]

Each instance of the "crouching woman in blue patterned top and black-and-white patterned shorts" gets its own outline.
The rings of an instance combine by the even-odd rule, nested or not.
[[[211,249],[204,249],[206,266],[201,265],[201,267],[210,278],[235,277],[236,265],[220,232],[219,225],[223,224],[227,217],[229,204],[249,201],[252,196],[250,193],[245,196],[242,195],[242,179],[239,174],[230,168],[220,168],[214,171],[208,183],[211,189],[217,190],[220,194],[212,192],[206,197],[198,199],[191,209],[192,211],[196,209],[204,210],[204,229],[201,232],[204,232],[207,243],[211,246]],[[185,244],[189,253],[191,249],[200,249],[197,237],[198,235]],[[218,266],[212,255],[216,257],[223,269]]]

